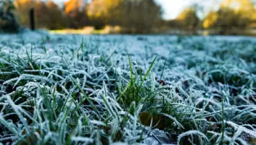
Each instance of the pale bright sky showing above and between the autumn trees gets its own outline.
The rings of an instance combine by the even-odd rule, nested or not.
[[[68,0],[53,0],[56,3],[63,3]],[[205,6],[206,12],[216,9],[219,5],[220,0],[156,0],[163,8],[163,18],[164,19],[175,19],[184,8],[191,6],[193,3],[197,2]],[[203,17],[203,15],[202,15]]]

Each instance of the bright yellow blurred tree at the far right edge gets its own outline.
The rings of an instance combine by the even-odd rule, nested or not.
[[[255,8],[250,0],[224,0],[217,12],[210,12],[203,28],[246,28],[252,21]]]

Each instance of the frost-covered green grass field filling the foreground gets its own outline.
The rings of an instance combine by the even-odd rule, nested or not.
[[[255,144],[256,39],[0,35],[0,143]]]

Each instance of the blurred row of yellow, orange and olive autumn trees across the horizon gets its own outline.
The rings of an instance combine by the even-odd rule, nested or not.
[[[11,0],[8,0],[11,1]],[[15,15],[21,26],[29,27],[28,12],[35,8],[37,28],[62,29],[93,26],[120,26],[122,32],[153,32],[161,25],[180,30],[198,28],[231,29],[248,28],[256,23],[253,0],[223,0],[218,10],[212,10],[202,20],[199,19],[200,3],[185,8],[176,19],[162,19],[162,8],[155,0],[69,0],[60,8],[53,1],[13,0]],[[197,8],[196,6],[199,6]],[[5,9],[3,11],[7,12]],[[8,11],[10,12],[10,10]],[[13,15],[13,17],[15,17]],[[164,22],[164,23],[162,23]],[[3,23],[3,20],[0,20]],[[3,24],[1,24],[3,25]],[[256,25],[255,25],[256,26]]]

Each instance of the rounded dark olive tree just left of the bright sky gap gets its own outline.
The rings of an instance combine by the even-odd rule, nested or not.
[[[154,0],[122,1],[117,10],[118,23],[127,32],[152,32],[161,22],[162,9]]]

